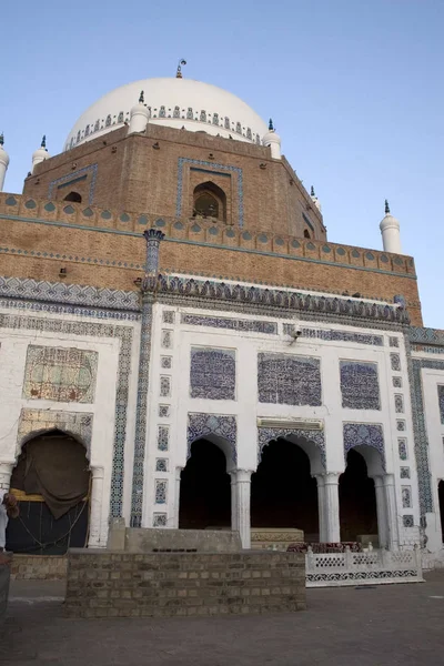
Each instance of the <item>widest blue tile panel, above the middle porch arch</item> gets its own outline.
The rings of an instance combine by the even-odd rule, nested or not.
[[[322,404],[319,359],[293,354],[258,354],[259,402],[281,405]]]

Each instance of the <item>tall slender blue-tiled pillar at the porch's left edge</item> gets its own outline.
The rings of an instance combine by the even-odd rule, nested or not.
[[[141,527],[143,507],[143,470],[147,446],[148,387],[150,382],[152,306],[155,299],[159,269],[159,246],[164,234],[148,229],[145,275],[142,280],[142,321],[140,332],[138,402],[135,407],[134,464],[131,493],[131,527]]]

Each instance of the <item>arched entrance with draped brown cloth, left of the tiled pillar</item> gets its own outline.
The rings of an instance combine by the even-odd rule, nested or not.
[[[20,516],[9,522],[7,548],[62,555],[88,541],[90,471],[84,446],[50,431],[22,447],[10,482]]]

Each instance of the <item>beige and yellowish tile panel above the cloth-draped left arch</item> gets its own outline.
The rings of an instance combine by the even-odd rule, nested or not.
[[[89,350],[29,345],[23,397],[93,403],[98,360]]]

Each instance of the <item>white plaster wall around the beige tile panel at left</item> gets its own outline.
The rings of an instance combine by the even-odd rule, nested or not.
[[[13,311],[6,311],[12,314]],[[23,312],[20,311],[22,315]],[[32,313],[32,319],[48,319],[48,314]],[[79,321],[69,314],[52,314],[51,319]],[[103,320],[84,317],[87,323],[103,323]],[[119,322],[119,325],[122,325]],[[46,345],[78,347],[98,352],[98,373],[94,403],[54,402],[26,400],[22,397],[23,377],[28,346]],[[93,414],[91,437],[91,467],[103,467],[103,495],[100,512],[100,541],[105,544],[110,507],[110,486],[114,442],[115,389],[118,379],[120,340],[117,337],[94,337],[90,335],[68,335],[64,333],[41,332],[24,329],[0,329],[0,462],[13,463],[20,453],[18,425],[20,412],[24,408],[85,412]],[[134,396],[131,396],[132,403]],[[130,405],[131,410],[132,405]],[[129,414],[131,413],[129,410]],[[127,432],[131,436],[131,428]]]

